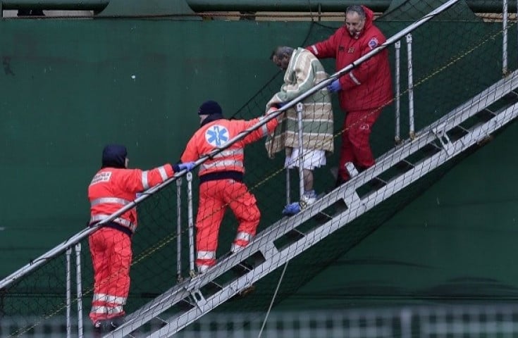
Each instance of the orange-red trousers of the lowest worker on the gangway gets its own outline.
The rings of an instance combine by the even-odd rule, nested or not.
[[[101,227],[88,238],[94,265],[94,298],[90,319],[125,315],[123,306],[130,292],[131,238],[110,227]]]

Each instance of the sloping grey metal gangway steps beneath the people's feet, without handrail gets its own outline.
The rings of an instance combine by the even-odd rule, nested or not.
[[[517,117],[517,89],[518,71],[514,71],[419,131],[411,142],[388,151],[374,167],[362,173],[353,170],[350,181],[300,213],[278,220],[242,251],[220,259],[206,273],[180,282],[150,301],[104,337],[126,337],[156,317],[165,324],[148,337],[171,337],[446,161],[486,142],[493,132]],[[492,111],[490,106],[500,108]],[[373,180],[378,184],[369,183]],[[362,193],[365,187],[371,189]],[[328,213],[329,208],[334,213]],[[320,221],[315,222],[319,215]],[[312,227],[308,228],[308,224]],[[243,265],[245,273],[230,277],[223,284],[218,282],[224,274]]]

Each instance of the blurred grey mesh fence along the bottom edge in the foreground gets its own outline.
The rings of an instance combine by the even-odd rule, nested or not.
[[[518,304],[462,306],[402,306],[274,312],[264,325],[264,313],[209,313],[178,332],[178,338],[414,338],[518,337]],[[27,320],[27,318],[23,318]],[[2,337],[20,318],[2,318]],[[35,327],[27,337],[61,338],[61,318]],[[149,334],[161,323],[152,321],[135,334]],[[77,327],[72,327],[77,329]],[[85,330],[87,337],[91,327]]]

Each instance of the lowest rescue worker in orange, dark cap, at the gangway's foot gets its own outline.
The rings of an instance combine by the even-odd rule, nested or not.
[[[137,192],[164,182],[194,163],[164,164],[152,170],[128,169],[125,146],[111,144],[102,153],[101,170],[88,187],[90,227],[130,204]],[[90,234],[88,244],[94,268],[94,297],[90,319],[96,337],[124,321],[123,306],[130,290],[131,237],[137,227],[137,209],[132,208]]]

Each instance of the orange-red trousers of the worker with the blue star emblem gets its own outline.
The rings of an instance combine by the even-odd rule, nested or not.
[[[256,234],[261,213],[255,196],[247,186],[235,180],[214,180],[199,185],[199,206],[196,219],[196,265],[199,272],[216,264],[218,232],[227,206],[238,219],[238,234],[232,251],[247,246]]]

